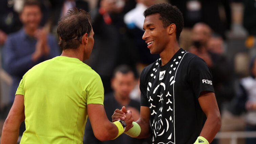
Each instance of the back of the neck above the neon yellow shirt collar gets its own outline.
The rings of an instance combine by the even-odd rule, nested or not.
[[[62,51],[61,56],[74,57],[78,58],[83,62],[84,60],[84,45],[80,44],[80,46],[76,49],[65,49]]]

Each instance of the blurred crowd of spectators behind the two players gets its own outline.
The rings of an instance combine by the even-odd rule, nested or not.
[[[24,8],[23,3],[29,1],[31,5]],[[9,96],[1,95],[9,98],[1,105],[1,119],[6,118],[26,71],[60,55],[58,20],[71,7],[90,11],[95,43],[90,58],[84,63],[101,76],[108,117],[111,120],[110,114],[122,105],[128,105],[134,117],[138,117],[138,77],[145,66],[159,58],[159,55],[150,54],[142,40],[143,11],[154,3],[166,2],[183,13],[180,47],[204,59],[211,69],[220,112],[226,109],[234,115],[244,113],[245,129],[256,131],[255,0],[39,0],[36,7],[33,2],[0,1],[1,67],[12,77]],[[242,34],[232,37],[231,3],[243,4],[241,24],[247,31],[244,37]],[[5,89],[1,87],[1,91]],[[87,131],[90,130],[88,126]],[[21,134],[22,129],[21,126]],[[88,138],[93,133],[88,134],[84,137],[85,142],[91,143]],[[122,139],[129,143],[134,141]],[[117,139],[116,143],[122,139]],[[142,141],[147,143],[147,139]],[[95,139],[93,143],[100,141]],[[256,140],[248,139],[247,143],[256,143]]]

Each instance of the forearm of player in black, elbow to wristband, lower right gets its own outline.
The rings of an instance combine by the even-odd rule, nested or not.
[[[220,115],[209,115],[206,119],[205,125],[202,128],[200,136],[206,138],[209,143],[212,142],[215,135],[219,131],[221,126]]]

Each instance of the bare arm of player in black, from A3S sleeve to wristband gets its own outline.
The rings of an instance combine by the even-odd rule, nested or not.
[[[211,143],[221,126],[220,113],[215,94],[208,91],[202,92],[198,101],[202,111],[204,111],[207,117],[200,136],[206,138],[208,142]]]

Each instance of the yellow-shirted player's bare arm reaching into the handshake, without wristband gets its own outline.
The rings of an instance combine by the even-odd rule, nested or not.
[[[87,111],[94,136],[97,139],[100,141],[112,140],[118,135],[118,128],[108,120],[102,104],[88,104]],[[127,113],[124,121],[129,129],[133,121],[131,113]]]

